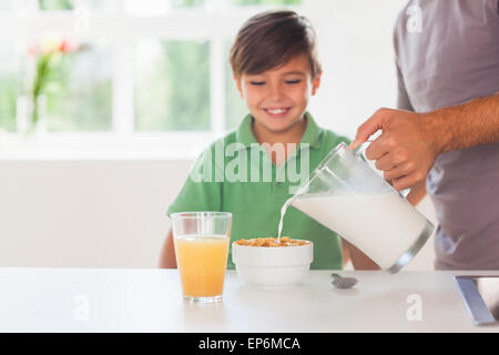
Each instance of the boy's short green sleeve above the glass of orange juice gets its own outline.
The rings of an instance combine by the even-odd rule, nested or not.
[[[221,211],[222,182],[215,179],[217,169],[220,170],[220,166],[216,165],[213,150],[204,151],[192,166],[166,215],[177,212]]]

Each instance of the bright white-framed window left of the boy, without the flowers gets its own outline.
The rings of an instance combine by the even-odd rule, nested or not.
[[[33,82],[30,45],[57,33],[79,47],[43,91],[47,142],[210,142],[246,113],[228,64],[237,29],[256,12],[301,2],[0,0],[0,21],[16,33],[0,38],[0,129],[18,130],[17,101]]]

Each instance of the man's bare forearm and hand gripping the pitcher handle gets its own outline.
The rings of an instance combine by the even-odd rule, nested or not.
[[[366,158],[376,160],[396,190],[411,187],[425,180],[438,154],[499,142],[499,92],[427,113],[379,109],[358,128],[350,148],[378,130]]]

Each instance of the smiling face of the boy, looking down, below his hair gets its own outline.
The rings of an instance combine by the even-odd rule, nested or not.
[[[312,78],[308,58],[302,54],[278,68],[255,75],[243,73],[234,80],[255,124],[278,133],[302,120],[320,73]]]

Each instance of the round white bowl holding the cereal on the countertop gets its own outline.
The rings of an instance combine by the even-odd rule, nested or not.
[[[232,243],[237,275],[258,287],[284,287],[302,283],[314,260],[313,243],[297,246],[248,246]]]

